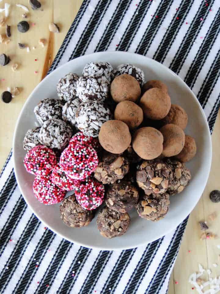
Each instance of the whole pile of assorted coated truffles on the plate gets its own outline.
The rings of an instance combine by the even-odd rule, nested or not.
[[[131,209],[162,219],[170,195],[189,185],[185,162],[196,155],[184,132],[188,116],[171,104],[167,85],[145,82],[131,64],[90,62],[82,76],[62,77],[57,95],[35,107],[39,126],[23,141],[35,197],[47,205],[62,201],[61,219],[73,228],[88,225],[105,203],[97,228],[107,238],[127,231]]]

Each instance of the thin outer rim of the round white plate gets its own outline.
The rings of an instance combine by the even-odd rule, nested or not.
[[[48,79],[48,78],[50,78],[51,76],[53,76],[53,75],[56,73],[56,71],[58,71],[58,70],[60,70],[61,68],[65,67],[67,63],[74,62],[75,60],[77,60],[77,59],[79,59],[79,58],[83,58],[84,56],[87,56],[87,57],[90,57],[90,56],[91,56],[91,57],[92,57],[92,56],[94,56],[94,55],[100,55],[100,54],[115,54],[115,55],[117,55],[117,54],[121,54],[121,53],[126,54],[126,55],[138,55],[138,56],[141,56],[141,58],[145,58],[145,59],[146,59],[146,62],[147,62],[148,60],[150,60],[151,62],[156,62],[156,63],[160,64],[160,66],[162,66],[165,70],[168,70],[172,75],[174,75],[174,77],[178,79],[178,82],[182,83],[186,88],[188,88],[188,90],[189,90],[189,91],[191,92],[191,94],[194,96],[194,99],[196,100],[196,103],[197,103],[197,105],[199,106],[200,111],[201,111],[201,113],[202,113],[202,115],[203,115],[203,118],[204,118],[204,121],[205,121],[205,126],[206,126],[206,128],[208,129],[208,134],[209,134],[209,135],[208,135],[208,138],[206,138],[206,139],[208,140],[210,153],[208,154],[208,157],[209,157],[209,165],[208,165],[208,167],[207,167],[207,179],[206,179],[206,181],[204,182],[204,189],[205,189],[206,184],[207,184],[207,181],[208,181],[208,178],[209,178],[209,174],[210,174],[210,170],[211,170],[211,161],[212,161],[212,142],[211,142],[211,133],[210,133],[209,125],[208,125],[208,122],[207,122],[207,119],[206,119],[206,116],[205,116],[204,110],[203,110],[201,104],[199,103],[199,101],[197,100],[196,95],[195,95],[195,94],[193,93],[193,91],[189,88],[189,86],[188,86],[188,85],[187,85],[187,84],[186,84],[186,83],[185,83],[185,82],[184,82],[184,81],[183,81],[183,80],[182,80],[177,74],[175,74],[171,69],[169,69],[167,66],[163,65],[162,63],[160,63],[160,62],[158,62],[158,61],[156,61],[156,60],[154,60],[154,59],[152,59],[152,58],[149,58],[149,57],[147,57],[147,56],[144,56],[144,55],[141,55],[141,54],[137,54],[137,53],[124,52],[124,51],[101,51],[101,52],[95,52],[95,53],[91,53],[91,54],[87,54],[87,55],[82,55],[82,56],[79,56],[79,57],[77,57],[77,58],[74,58],[74,59],[72,59],[72,60],[70,60],[70,61],[68,61],[68,62],[65,62],[64,64],[62,64],[61,66],[59,66],[59,67],[57,67],[55,70],[53,70],[53,71],[52,71],[50,74],[48,74],[46,77],[44,77],[44,78],[42,79],[42,81],[44,81],[45,79]],[[22,107],[22,109],[21,109],[21,111],[20,111],[20,113],[19,113],[19,115],[18,115],[18,118],[17,118],[17,120],[16,120],[16,126],[15,126],[15,129],[14,129],[14,134],[13,134],[13,147],[12,147],[12,150],[15,150],[15,145],[16,145],[16,134],[17,134],[17,131],[18,131],[18,126],[19,126],[19,123],[20,123],[20,119],[21,119],[21,117],[22,117],[23,110],[24,110],[24,108],[26,107],[26,104],[28,104],[29,100],[31,100],[31,96],[33,96],[33,95],[34,95],[34,92],[37,91],[37,90],[39,89],[39,87],[41,86],[42,81],[40,81],[39,84],[38,84],[38,85],[33,89],[33,91],[30,93],[30,95],[28,96],[27,100],[25,101],[25,103],[24,103],[24,105],[23,105],[23,107]],[[27,203],[28,207],[31,209],[32,213],[34,213],[35,216],[36,216],[36,217],[37,217],[37,218],[38,218],[43,224],[45,224],[45,225],[47,226],[47,228],[49,228],[52,232],[54,232],[54,233],[57,234],[58,236],[62,237],[63,239],[68,240],[68,241],[71,242],[71,243],[75,243],[75,244],[77,244],[77,245],[80,245],[80,246],[83,246],[83,247],[86,247],[86,248],[98,249],[98,250],[110,250],[110,251],[112,251],[112,250],[117,251],[117,250],[127,250],[127,249],[132,249],[132,248],[136,248],[136,247],[140,247],[140,246],[145,246],[145,245],[147,245],[147,244],[149,244],[149,243],[155,241],[155,238],[149,238],[150,240],[149,240],[148,242],[144,242],[144,241],[143,241],[143,242],[139,242],[136,246],[133,246],[133,247],[130,247],[130,246],[114,247],[114,245],[113,245],[113,246],[109,246],[109,247],[105,247],[105,248],[103,248],[103,247],[100,247],[100,246],[97,246],[97,245],[94,245],[94,246],[88,246],[88,245],[86,245],[85,243],[80,243],[80,242],[75,241],[75,240],[73,241],[72,239],[70,239],[70,238],[68,238],[68,237],[66,237],[66,236],[63,236],[60,232],[57,232],[56,229],[51,228],[50,226],[48,226],[48,225],[47,225],[47,224],[41,219],[41,217],[39,217],[38,213],[36,213],[36,212],[34,211],[34,208],[32,208],[32,206],[29,204],[28,199],[25,197],[25,193],[23,193],[23,190],[22,190],[21,187],[20,187],[20,182],[19,182],[19,180],[18,180],[18,171],[17,171],[16,161],[15,161],[15,153],[14,153],[14,152],[12,152],[12,153],[13,153],[13,168],[14,168],[14,173],[15,173],[16,181],[17,181],[18,187],[19,187],[19,189],[20,189],[20,192],[21,192],[21,194],[22,194],[22,196],[23,196],[25,202]],[[203,189],[203,192],[204,192],[204,189]],[[203,193],[203,192],[202,192],[202,193]],[[201,194],[201,196],[202,196],[202,194]],[[201,198],[201,196],[200,196],[200,198]],[[192,209],[191,209],[190,211],[186,211],[186,212],[184,213],[184,216],[181,217],[181,221],[178,222],[177,225],[171,226],[171,227],[167,230],[166,235],[169,234],[171,231],[173,231],[175,228],[177,228],[179,224],[182,223],[182,221],[183,221],[183,220],[184,220],[184,219],[185,219],[185,218],[186,218],[186,217],[192,212],[192,210],[195,208],[195,206],[197,205],[197,203],[198,203],[198,201],[200,200],[200,198],[198,198],[197,202],[195,203],[195,205],[192,207]],[[160,238],[163,237],[163,236],[165,236],[165,235],[163,235],[163,234],[161,233],[161,234],[159,234],[159,237],[157,236],[157,239],[160,239]],[[156,240],[157,240],[157,239],[156,239]]]

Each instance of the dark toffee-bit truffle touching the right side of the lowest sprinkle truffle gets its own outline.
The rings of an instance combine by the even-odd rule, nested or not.
[[[128,182],[112,184],[108,187],[105,203],[108,208],[126,213],[138,203],[138,189]]]

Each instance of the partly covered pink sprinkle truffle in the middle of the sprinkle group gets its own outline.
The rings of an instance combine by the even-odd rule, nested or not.
[[[75,188],[81,183],[79,180],[68,177],[58,164],[55,165],[52,171],[51,180],[55,185],[60,187],[61,190],[66,191],[75,190]]]

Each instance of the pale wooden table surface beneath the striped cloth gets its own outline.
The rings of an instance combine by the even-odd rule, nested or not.
[[[8,45],[0,44],[0,53],[9,55],[11,62],[9,65],[1,67],[0,91],[3,92],[7,90],[7,87],[13,88],[16,86],[21,89],[21,93],[19,96],[13,98],[9,104],[0,102],[0,168],[3,166],[11,149],[15,123],[20,110],[28,95],[46,75],[71,22],[79,10],[82,0],[62,2],[60,0],[42,0],[43,11],[31,10],[27,4],[27,0],[7,0],[6,2],[11,4],[7,24],[11,25],[12,36]],[[16,7],[16,3],[26,5],[29,8],[27,20],[30,23],[30,30],[23,34],[17,31],[16,25],[22,20],[21,15],[24,13],[24,10]],[[0,3],[0,8],[3,5],[4,1]],[[3,13],[0,13],[1,16],[3,16]],[[53,34],[49,31],[49,22],[55,22],[59,25],[59,34]],[[4,33],[5,27],[1,27],[0,34]],[[40,38],[46,39],[46,46],[44,48],[38,44]],[[18,43],[27,44],[30,47],[30,52],[28,53],[26,49],[20,49]],[[33,47],[36,48],[33,49]],[[11,70],[13,63],[19,65],[15,72]],[[220,249],[217,247],[220,244],[220,240],[200,241],[201,231],[198,225],[198,221],[200,220],[208,221],[209,214],[214,211],[217,212],[219,208],[218,204],[214,204],[209,200],[210,191],[220,189],[218,172],[220,166],[219,133],[220,116],[218,115],[215,130],[212,134],[213,161],[211,173],[200,201],[190,214],[180,251],[171,275],[168,294],[196,293],[196,290],[191,289],[192,286],[189,285],[188,278],[191,273],[198,270],[198,263],[201,263],[204,268],[211,268],[213,276],[215,273],[220,275],[220,266],[216,268],[212,266],[213,263],[219,263],[220,265],[220,262],[218,262]],[[210,231],[218,234],[219,221],[220,215],[212,223],[209,223]],[[188,252],[189,250],[191,251],[190,253]]]

